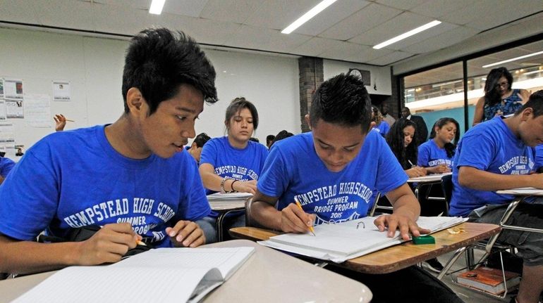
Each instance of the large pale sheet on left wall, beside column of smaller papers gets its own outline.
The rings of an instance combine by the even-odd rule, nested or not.
[[[25,94],[25,121],[31,127],[51,127],[51,96]]]

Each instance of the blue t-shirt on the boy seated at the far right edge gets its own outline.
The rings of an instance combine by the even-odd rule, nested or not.
[[[513,196],[460,186],[458,168],[462,166],[494,174],[529,174],[534,169],[534,153],[511,132],[501,117],[467,131],[456,150],[449,209],[453,216],[467,217],[473,209],[487,204],[504,204],[513,200]]]

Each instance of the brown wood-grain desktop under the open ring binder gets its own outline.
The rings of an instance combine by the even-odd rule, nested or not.
[[[338,264],[338,266],[362,273],[391,273],[489,238],[500,230],[500,227],[494,224],[469,222],[456,227],[463,228],[464,232],[451,234],[444,230],[432,233],[436,239],[435,244],[415,245],[413,242],[406,242],[350,259]],[[248,240],[267,240],[269,237],[279,234],[276,231],[254,227],[231,228],[230,233],[233,237]]]

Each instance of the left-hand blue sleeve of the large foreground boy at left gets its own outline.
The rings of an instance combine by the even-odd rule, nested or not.
[[[49,153],[44,144],[37,143],[0,186],[0,233],[34,240],[51,224],[61,193]]]

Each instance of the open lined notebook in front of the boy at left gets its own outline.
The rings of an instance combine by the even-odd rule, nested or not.
[[[254,251],[158,248],[108,266],[71,266],[13,302],[198,302]]]

